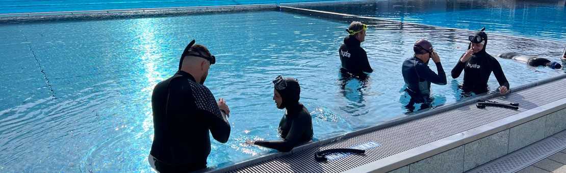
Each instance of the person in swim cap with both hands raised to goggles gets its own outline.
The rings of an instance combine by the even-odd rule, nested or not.
[[[418,40],[413,46],[415,52],[412,58],[406,59],[403,62],[401,72],[407,88],[405,91],[411,96],[409,105],[406,107],[412,111],[414,103],[423,103],[421,109],[430,107],[432,99],[430,98],[430,83],[437,85],[446,85],[446,75],[440,57],[434,49],[432,44],[427,40]],[[428,68],[428,60],[436,64],[436,71],[438,75]]]

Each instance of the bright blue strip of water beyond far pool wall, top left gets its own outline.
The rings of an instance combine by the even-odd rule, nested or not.
[[[0,14],[20,12],[53,12],[53,11],[84,11],[84,10],[115,10],[128,8],[164,8],[164,7],[196,7],[196,6],[226,6],[254,5],[295,2],[319,2],[337,0],[0,0]]]

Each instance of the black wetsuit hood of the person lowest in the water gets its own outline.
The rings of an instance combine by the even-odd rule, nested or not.
[[[299,86],[299,82],[293,77],[285,77],[284,80],[287,83],[285,89],[276,89],[277,92],[281,94],[281,98],[283,100],[281,108],[286,108],[287,110],[298,109],[298,107],[301,107],[299,106],[301,86]]]

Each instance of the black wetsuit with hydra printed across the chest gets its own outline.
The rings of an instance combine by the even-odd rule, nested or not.
[[[483,49],[475,53],[467,62],[461,62],[458,59],[456,67],[452,69],[452,78],[456,79],[464,70],[464,84],[462,90],[464,92],[474,92],[476,94],[487,92],[487,80],[490,78],[491,72],[494,72],[495,78],[500,86],[507,86],[509,82],[501,70],[501,66],[497,59],[486,52],[487,40]]]

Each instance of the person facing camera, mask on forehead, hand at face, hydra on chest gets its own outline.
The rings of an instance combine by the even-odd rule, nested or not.
[[[468,37],[470,46],[452,69],[452,78],[459,77],[463,70],[464,84],[462,90],[465,93],[480,94],[487,92],[487,80],[493,72],[500,85],[499,93],[507,94],[509,82],[497,59],[486,52],[487,34],[483,30],[474,32],[472,36]]]

